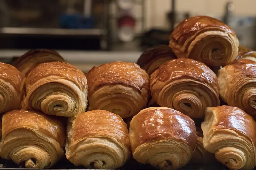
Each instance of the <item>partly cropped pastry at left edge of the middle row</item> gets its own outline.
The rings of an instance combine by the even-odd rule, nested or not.
[[[15,67],[0,62],[0,113],[18,109],[23,99],[25,77]]]

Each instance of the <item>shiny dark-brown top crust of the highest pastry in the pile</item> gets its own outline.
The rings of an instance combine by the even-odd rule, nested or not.
[[[170,41],[183,46],[188,38],[204,31],[221,29],[235,35],[235,32],[218,19],[208,16],[196,16],[180,22],[170,36]]]

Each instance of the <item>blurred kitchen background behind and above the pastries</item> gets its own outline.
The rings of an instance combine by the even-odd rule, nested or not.
[[[256,49],[256,0],[0,0],[0,61],[29,49],[57,50],[87,72],[168,44],[183,19],[208,15],[231,26],[241,45]]]

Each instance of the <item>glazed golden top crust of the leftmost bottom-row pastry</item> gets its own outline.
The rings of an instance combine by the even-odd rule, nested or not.
[[[34,111],[13,110],[3,115],[2,123],[3,137],[12,130],[27,128],[35,133],[41,131],[51,136],[60,144],[60,147],[65,145],[66,129],[54,116]]]

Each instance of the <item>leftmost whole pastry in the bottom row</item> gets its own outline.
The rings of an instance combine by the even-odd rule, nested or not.
[[[65,129],[59,120],[33,111],[3,115],[0,155],[27,168],[50,168],[64,156]]]

